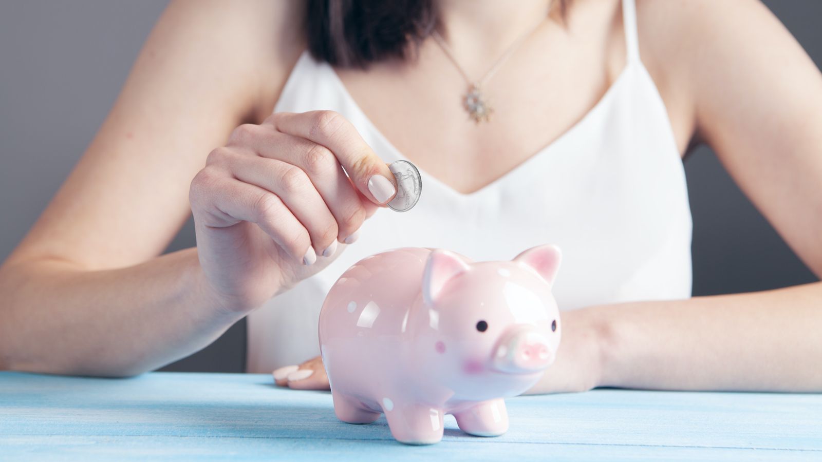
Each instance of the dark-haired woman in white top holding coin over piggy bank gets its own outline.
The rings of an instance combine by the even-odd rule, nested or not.
[[[555,243],[532,392],[822,390],[822,284],[690,298],[700,142],[822,275],[822,78],[759,2],[308,3],[171,3],[0,270],[0,367],[128,376],[249,316],[249,371],[324,388],[289,364],[354,261]],[[381,210],[396,159],[423,174],[406,214]],[[190,210],[197,247],[158,256]]]

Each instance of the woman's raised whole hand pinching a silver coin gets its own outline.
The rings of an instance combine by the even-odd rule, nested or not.
[[[189,193],[205,289],[230,311],[261,306],[327,266],[338,242],[353,243],[394,183],[337,113],[275,113],[237,127]]]

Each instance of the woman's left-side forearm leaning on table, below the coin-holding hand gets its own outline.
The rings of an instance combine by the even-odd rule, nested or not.
[[[118,270],[0,270],[0,368],[128,376],[210,344],[242,317],[206,290],[196,248]]]

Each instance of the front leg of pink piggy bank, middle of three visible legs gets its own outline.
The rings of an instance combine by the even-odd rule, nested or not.
[[[442,439],[442,411],[419,404],[383,406],[391,435],[407,445],[430,445]]]

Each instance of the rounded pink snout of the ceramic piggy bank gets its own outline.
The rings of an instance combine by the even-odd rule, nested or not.
[[[539,372],[554,361],[546,335],[538,330],[519,329],[504,335],[494,351],[494,368],[500,372]]]

